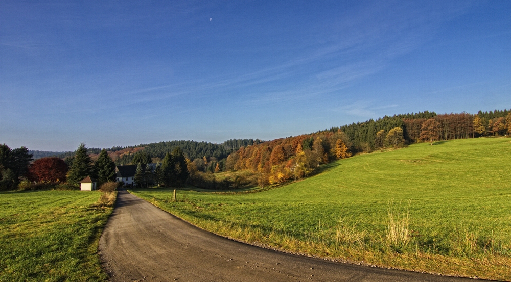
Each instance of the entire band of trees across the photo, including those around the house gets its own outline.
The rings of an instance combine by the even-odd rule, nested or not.
[[[222,144],[197,141],[168,141],[131,148],[141,149],[121,158],[137,165],[137,183],[142,186],[179,186],[184,183],[203,188],[228,188],[239,183],[218,182],[211,174],[226,170],[250,170],[260,186],[297,180],[310,175],[323,163],[357,152],[430,142],[511,133],[511,110],[479,111],[477,114],[436,114],[424,111],[377,120],[331,127],[311,134],[272,141],[231,139]],[[181,147],[182,146],[182,147]],[[127,147],[112,147],[121,150]],[[171,153],[172,152],[172,153]],[[90,153],[99,153],[96,162]],[[111,153],[111,151],[110,151]],[[32,181],[65,182],[77,185],[87,175],[99,181],[115,179],[115,163],[106,149],[87,149],[80,144],[62,158],[42,158],[29,164],[33,155],[25,148],[0,146],[0,189],[15,187],[20,178]],[[65,157],[60,156],[60,157]],[[161,160],[148,169],[153,158]]]

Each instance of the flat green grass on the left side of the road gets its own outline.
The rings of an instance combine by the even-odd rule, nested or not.
[[[107,280],[98,242],[116,193],[0,193],[0,281]]]

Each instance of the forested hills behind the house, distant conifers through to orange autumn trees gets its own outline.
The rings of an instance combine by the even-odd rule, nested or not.
[[[479,111],[477,114],[419,112],[384,116],[364,122],[331,127],[323,131],[271,141],[231,139],[221,144],[191,140],[165,141],[106,149],[115,165],[162,163],[179,148],[186,159],[186,183],[202,188],[229,189],[246,185],[261,187],[298,180],[314,173],[320,164],[355,153],[393,149],[417,142],[506,136],[511,132],[511,109]],[[94,159],[100,148],[87,148]],[[51,152],[28,151],[38,159]],[[75,152],[57,152],[71,167]],[[184,166],[184,163],[181,165]],[[251,171],[252,177],[217,181],[222,171]]]

